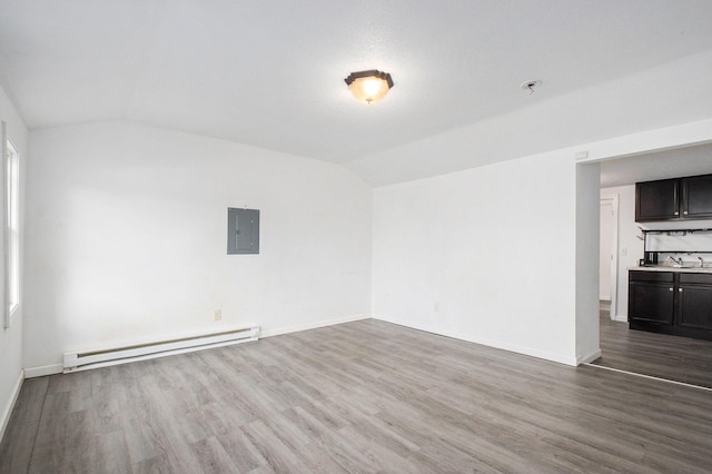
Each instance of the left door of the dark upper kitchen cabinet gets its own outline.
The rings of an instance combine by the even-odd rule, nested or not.
[[[635,184],[635,221],[680,218],[679,179]]]

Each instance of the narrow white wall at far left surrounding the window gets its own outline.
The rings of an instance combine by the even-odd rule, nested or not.
[[[24,216],[24,175],[27,164],[27,128],[19,113],[14,109],[14,106],[6,95],[4,90],[0,88],[0,120],[4,121],[8,127],[8,136],[12,140],[12,144],[18,148],[20,155],[20,225],[23,223],[22,216]],[[6,192],[4,182],[0,182],[0,192]],[[4,245],[2,241],[2,233],[0,233],[0,248]],[[20,229],[20,241],[22,240],[22,229]],[[20,261],[22,261],[23,248],[20,246]],[[22,264],[20,264],[20,271],[22,271]],[[4,275],[0,270],[0,288],[4,285]],[[22,287],[20,287],[22,290]],[[7,303],[2,299],[0,292],[0,305],[4,307]],[[1,322],[2,316],[0,312],[0,438],[4,431],[10,411],[12,409],[12,403],[20,388],[22,381],[22,324],[24,312],[24,298],[21,297],[20,307],[14,314],[12,325],[9,328],[3,328]]]

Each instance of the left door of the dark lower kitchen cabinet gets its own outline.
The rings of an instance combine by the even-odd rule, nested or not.
[[[629,320],[672,326],[673,289],[672,283],[631,282],[629,284]]]

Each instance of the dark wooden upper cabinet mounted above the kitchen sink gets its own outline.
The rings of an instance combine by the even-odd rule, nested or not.
[[[635,184],[635,221],[712,218],[712,175]]]

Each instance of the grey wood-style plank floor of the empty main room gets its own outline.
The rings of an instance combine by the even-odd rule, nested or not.
[[[0,472],[702,473],[710,392],[363,320],[26,381]]]

